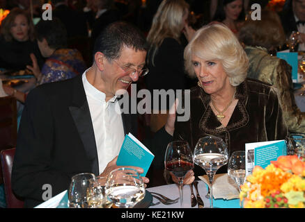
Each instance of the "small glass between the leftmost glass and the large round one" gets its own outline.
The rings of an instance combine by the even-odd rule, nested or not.
[[[89,180],[87,203],[89,208],[110,208],[112,203],[105,193],[107,177],[98,176]]]

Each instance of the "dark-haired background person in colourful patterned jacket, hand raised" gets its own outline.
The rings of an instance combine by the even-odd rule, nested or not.
[[[67,33],[58,19],[41,20],[35,26],[35,31],[40,52],[47,60],[40,71],[36,56],[31,54],[33,67],[26,67],[33,71],[38,85],[72,78],[85,71],[86,65],[81,53],[77,49],[66,48]],[[12,87],[3,86],[3,89],[24,103],[26,94],[15,91]]]

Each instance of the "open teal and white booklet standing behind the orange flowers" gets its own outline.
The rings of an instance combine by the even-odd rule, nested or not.
[[[281,155],[287,155],[285,140],[246,144],[246,174],[251,173],[254,166],[265,169]]]

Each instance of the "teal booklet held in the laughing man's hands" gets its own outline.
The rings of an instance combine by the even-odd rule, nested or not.
[[[141,176],[146,176],[154,157],[155,155],[153,155],[146,146],[129,133],[125,136],[116,164],[118,166],[141,167],[144,170],[144,172],[141,173]]]

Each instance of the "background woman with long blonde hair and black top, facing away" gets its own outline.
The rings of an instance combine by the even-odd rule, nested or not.
[[[187,40],[194,34],[188,26],[189,4],[184,0],[164,0],[153,17],[153,25],[147,36],[150,49],[146,62],[150,73],[146,76],[146,87],[153,89],[185,89],[186,74],[183,65],[184,46],[180,40],[182,33]],[[165,110],[171,104],[166,103]],[[160,104],[159,104],[159,110]],[[159,110],[157,110],[159,112]],[[166,114],[151,115],[151,130],[159,130],[166,122]]]

